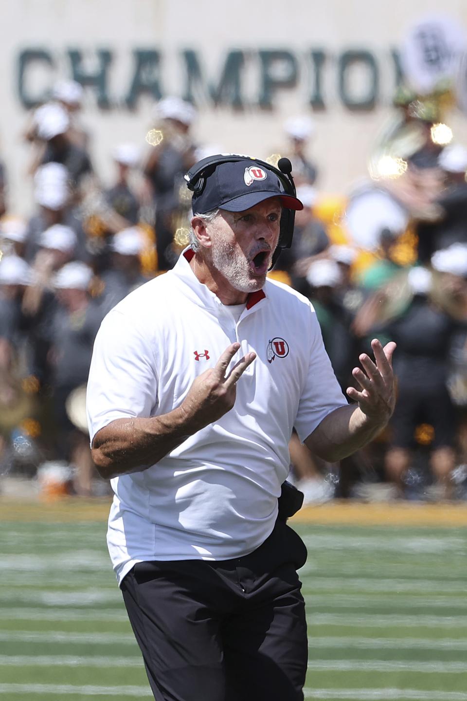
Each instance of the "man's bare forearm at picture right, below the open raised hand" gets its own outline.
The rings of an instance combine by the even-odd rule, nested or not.
[[[386,418],[370,419],[356,404],[351,404],[339,407],[323,418],[305,444],[320,458],[335,462],[369,443],[385,425]]]

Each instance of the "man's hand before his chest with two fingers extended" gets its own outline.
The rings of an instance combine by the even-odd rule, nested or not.
[[[198,375],[181,404],[186,413],[186,421],[195,430],[217,421],[227,414],[235,404],[235,385],[246,368],[256,358],[256,353],[247,353],[225,376],[232,358],[240,348],[239,343],[231,343],[214,367]]]

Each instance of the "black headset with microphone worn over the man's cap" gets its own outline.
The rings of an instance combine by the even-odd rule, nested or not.
[[[218,156],[208,156],[207,158],[202,158],[202,161],[198,161],[193,165],[193,168],[188,170],[185,175],[186,185],[189,190],[199,196],[204,187],[206,186],[207,178],[214,173],[214,170],[222,163],[235,163],[236,161],[254,161],[258,163],[261,168],[265,170],[270,170],[274,175],[277,175],[281,186],[284,188],[284,195],[290,195],[292,197],[297,196],[297,191],[295,189],[295,183],[292,177],[292,164],[288,158],[279,158],[277,163],[277,168],[274,165],[267,163],[266,161],[261,161],[260,158],[251,158],[251,156],[240,156],[238,154],[228,154],[228,155],[218,155]],[[295,223],[295,210],[289,210],[283,207],[281,214],[281,222],[279,229],[279,241],[277,243],[277,248],[272,255],[272,263],[270,270],[274,268],[277,263],[277,259],[281,254],[283,248],[290,248],[292,245],[293,237],[293,224]]]

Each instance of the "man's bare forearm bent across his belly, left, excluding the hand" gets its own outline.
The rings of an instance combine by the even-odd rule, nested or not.
[[[95,435],[92,459],[104,479],[142,472],[197,430],[183,407],[162,416],[119,418]]]

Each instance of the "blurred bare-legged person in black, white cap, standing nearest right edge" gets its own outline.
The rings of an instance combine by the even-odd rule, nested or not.
[[[434,431],[431,470],[438,496],[451,496],[455,466],[456,416],[447,390],[449,351],[459,323],[467,318],[467,290],[456,275],[459,263],[467,273],[467,247],[460,252],[433,256],[434,272],[423,266],[411,268],[375,293],[359,312],[358,329],[390,336],[398,343],[394,369],[398,378],[398,401],[389,426],[386,474],[400,496],[416,447],[415,429],[423,423]],[[392,308],[391,318],[381,321]]]

